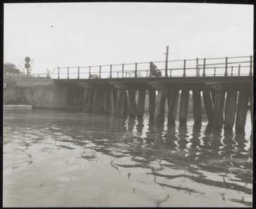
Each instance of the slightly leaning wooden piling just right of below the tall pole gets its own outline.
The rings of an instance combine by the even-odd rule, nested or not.
[[[171,89],[168,92],[168,123],[175,123],[176,121],[179,93],[178,89]]]

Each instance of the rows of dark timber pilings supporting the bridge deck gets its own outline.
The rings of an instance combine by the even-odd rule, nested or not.
[[[179,123],[186,123],[190,101],[192,102],[195,124],[201,124],[203,104],[208,125],[214,129],[221,129],[224,125],[226,130],[232,130],[235,125],[236,130],[243,130],[246,125],[249,100],[251,118],[253,118],[252,89],[250,89],[250,84],[246,84],[246,82],[240,84],[232,82],[190,84],[148,82],[147,85],[134,85],[132,82],[111,82],[105,86],[98,86],[89,82],[78,84],[84,88],[83,112],[108,113],[112,91],[115,116],[143,118],[148,91],[150,120],[164,121],[168,107],[168,123],[176,123],[178,109]],[[192,93],[192,100],[190,100],[190,93]],[[201,93],[204,103],[202,103]],[[168,105],[166,105],[166,100]],[[180,105],[179,108],[178,104]]]

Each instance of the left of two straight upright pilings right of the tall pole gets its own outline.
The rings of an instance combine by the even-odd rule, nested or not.
[[[180,95],[180,123],[187,123],[189,99],[190,91],[188,89],[183,89]]]

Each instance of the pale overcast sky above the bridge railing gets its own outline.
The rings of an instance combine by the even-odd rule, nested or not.
[[[253,5],[5,3],[3,61],[59,67],[253,55]]]

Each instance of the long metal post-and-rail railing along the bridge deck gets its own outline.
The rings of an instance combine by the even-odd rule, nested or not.
[[[252,76],[253,56],[222,57],[212,59],[183,59],[155,61],[162,77]],[[122,63],[86,67],[55,68],[57,79],[108,79],[149,77],[150,62]]]

